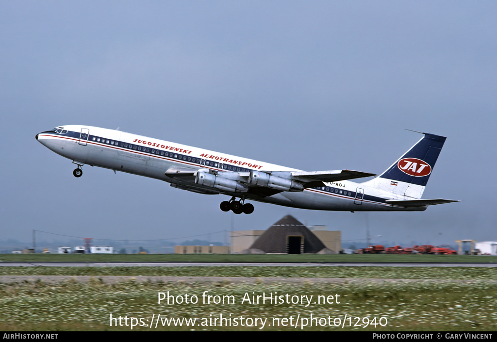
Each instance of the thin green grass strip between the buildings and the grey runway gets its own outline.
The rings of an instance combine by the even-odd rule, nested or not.
[[[497,256],[441,256],[397,254],[244,255],[244,254],[0,254],[7,261],[83,262],[497,262]]]

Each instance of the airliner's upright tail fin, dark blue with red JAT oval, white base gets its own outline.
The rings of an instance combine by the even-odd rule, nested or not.
[[[423,134],[424,137],[390,168],[366,183],[372,182],[375,188],[398,195],[421,198],[446,139],[439,135]]]

